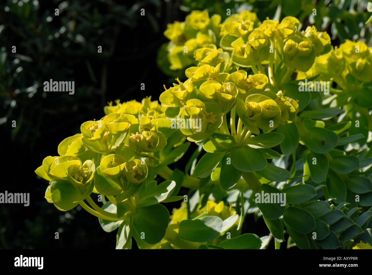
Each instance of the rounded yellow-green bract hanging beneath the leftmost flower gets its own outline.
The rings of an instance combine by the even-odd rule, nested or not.
[[[81,193],[68,180],[52,181],[50,192],[53,204],[61,211],[71,210],[79,204],[75,201],[79,199]]]

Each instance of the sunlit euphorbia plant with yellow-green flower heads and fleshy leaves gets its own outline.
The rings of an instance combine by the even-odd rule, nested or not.
[[[190,33],[206,16],[190,15]],[[183,26],[167,36],[181,39]],[[44,159],[35,172],[49,180],[48,202],[80,204],[103,230],[118,228],[119,249],[132,236],[139,248],[260,249],[272,238],[276,248],[370,247],[372,48],[333,48],[327,33],[298,27],[294,17],[230,16],[219,45],[193,50],[197,66],[164,86],[161,104],[110,102]],[[332,84],[318,91],[316,81]],[[185,170],[171,170],[190,143]],[[180,196],[182,186],[196,192]],[[163,203],[180,200],[170,216]],[[241,234],[247,214],[262,216],[270,235]]]

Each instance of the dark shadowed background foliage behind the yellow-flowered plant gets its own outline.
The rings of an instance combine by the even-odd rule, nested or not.
[[[310,11],[304,5],[312,2],[302,1],[293,16],[308,16]],[[266,16],[272,18],[280,3],[276,0],[1,1],[3,177],[0,192],[30,193],[30,205],[0,204],[0,248],[114,248],[116,232],[105,233],[97,218],[80,206],[61,212],[48,204],[44,199],[48,183],[33,171],[44,157],[57,155],[58,144],[80,132],[81,123],[101,118],[108,101],[140,101],[147,95],[157,100],[164,91],[163,84],[171,86],[174,79],[157,66],[158,49],[167,42],[163,35],[167,23],[185,20],[190,9],[209,9],[210,15],[219,13],[223,20],[227,17],[227,8],[234,13],[252,4],[253,11],[263,20]],[[57,8],[59,16],[55,16]],[[140,15],[141,9],[145,9],[145,16]],[[283,11],[285,9],[284,5]],[[293,9],[288,9],[290,12],[293,13]],[[348,14],[343,7],[331,12],[335,16]],[[366,21],[363,17],[358,20]],[[355,24],[356,34],[360,27],[358,22],[353,26]],[[342,29],[342,25],[335,26]],[[346,33],[347,38],[355,34]],[[341,37],[341,41],[343,39]],[[16,53],[12,53],[12,46],[16,46]],[[102,53],[97,53],[98,46],[102,46]],[[180,79],[183,78],[184,75],[180,75]],[[49,79],[75,81],[75,94],[44,92],[43,83]],[[145,83],[144,91],[140,89],[141,83]],[[12,127],[13,120],[16,127]],[[188,156],[172,168],[183,170]],[[173,207],[179,207],[179,202],[166,206],[171,213]],[[54,238],[55,232],[60,233],[58,240]],[[243,233],[262,237],[269,234],[269,230],[262,219],[256,223],[250,214],[243,224]]]

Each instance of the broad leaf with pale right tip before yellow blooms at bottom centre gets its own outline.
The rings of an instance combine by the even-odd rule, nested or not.
[[[222,219],[217,216],[204,216],[193,220],[186,219],[180,222],[177,236],[186,241],[210,241],[221,233],[222,228]]]

